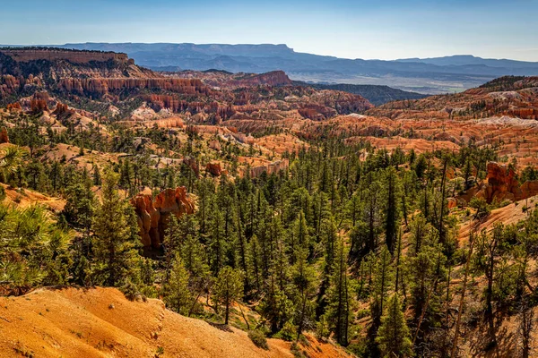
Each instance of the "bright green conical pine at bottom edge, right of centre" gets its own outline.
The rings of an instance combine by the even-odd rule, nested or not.
[[[393,294],[386,306],[376,337],[381,356],[409,357],[412,355],[411,338],[398,295]]]

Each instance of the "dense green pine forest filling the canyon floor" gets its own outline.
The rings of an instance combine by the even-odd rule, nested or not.
[[[29,150],[4,150],[0,182],[61,196],[65,209],[55,217],[40,206],[0,206],[2,294],[115,286],[132,299],[162,297],[170,310],[191,317],[208,319],[207,305],[211,320],[225,324],[240,304],[259,314],[251,328],[266,336],[297,341],[315,332],[371,357],[456,356],[463,325],[473,321],[483,321],[490,349],[498,344],[496,317],[514,314],[522,350],[532,356],[529,307],[537,302],[528,263],[538,256],[538,212],[460,242],[447,209],[448,197],[472,186],[471,176],[483,179],[486,163],[497,159],[493,149],[471,143],[456,152],[391,154],[368,144],[312,142],[284,155],[286,171],[232,180],[197,177],[186,165],[159,169],[148,153],[91,170],[41,160],[41,145],[115,152],[134,134],[117,129],[109,143],[97,131],[36,131],[29,122],[10,132]],[[171,135],[148,132],[178,146]],[[198,141],[189,137],[189,147]],[[144,257],[128,199],[144,186],[159,192],[179,185],[195,194],[195,214],[170,217],[163,250]],[[458,309],[478,277],[480,307]]]

